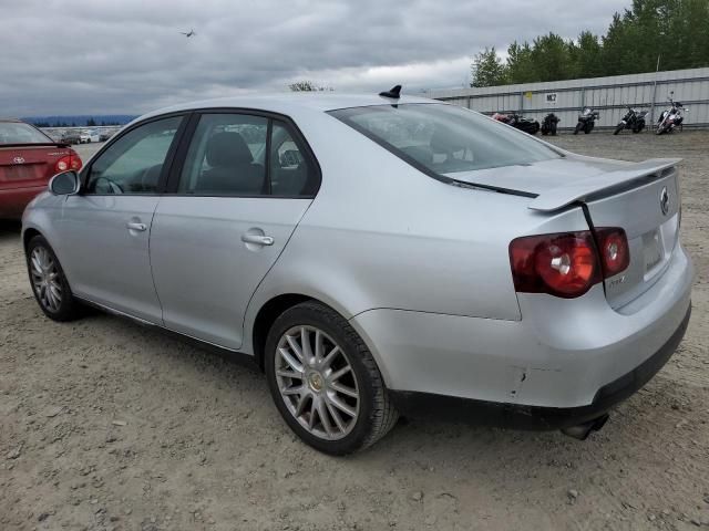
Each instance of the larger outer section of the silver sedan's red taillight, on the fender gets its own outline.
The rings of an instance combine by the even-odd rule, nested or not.
[[[600,281],[600,267],[589,231],[527,236],[510,243],[517,292],[573,299]]]

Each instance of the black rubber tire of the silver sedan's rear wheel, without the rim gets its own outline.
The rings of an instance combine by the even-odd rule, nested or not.
[[[360,409],[351,431],[337,440],[310,434],[286,406],[276,378],[276,355],[281,336],[294,326],[315,326],[329,335],[347,356],[359,387]],[[317,450],[343,456],[362,450],[382,438],[394,426],[399,414],[369,348],[352,326],[335,310],[319,302],[304,302],[286,310],[270,327],[266,340],[265,369],[271,397],[286,424]]]

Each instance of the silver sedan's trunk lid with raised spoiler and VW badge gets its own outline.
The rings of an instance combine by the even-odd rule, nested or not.
[[[620,308],[665,271],[679,235],[679,159],[624,163],[568,156],[525,167],[449,174],[459,183],[532,197],[528,208],[553,212],[585,205],[594,228],[625,230],[630,264],[605,280],[606,299]]]

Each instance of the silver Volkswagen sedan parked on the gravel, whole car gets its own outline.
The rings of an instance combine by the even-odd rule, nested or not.
[[[678,160],[583,157],[398,96],[142,116],[24,212],[41,310],[248,356],[329,454],[423,412],[585,438],[685,334]]]

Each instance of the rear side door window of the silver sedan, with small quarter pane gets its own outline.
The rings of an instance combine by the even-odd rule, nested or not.
[[[289,125],[250,114],[203,114],[183,165],[178,194],[309,196],[315,168]]]

